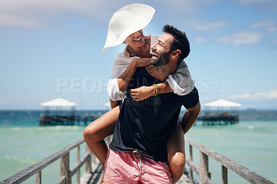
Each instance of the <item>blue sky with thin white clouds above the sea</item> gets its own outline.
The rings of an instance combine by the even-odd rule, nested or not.
[[[184,30],[186,59],[202,104],[224,98],[277,109],[276,0],[1,0],[0,109],[42,109],[64,98],[105,109],[114,56],[102,53],[113,13],[129,3],[156,9],[145,35]]]

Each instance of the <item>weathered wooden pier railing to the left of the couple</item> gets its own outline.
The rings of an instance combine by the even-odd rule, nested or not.
[[[51,156],[44,158],[43,160],[27,167],[26,169],[18,172],[17,174],[10,176],[4,181],[1,181],[0,184],[8,183],[22,183],[26,181],[31,176],[36,177],[36,184],[42,183],[42,169],[60,159],[60,178],[57,183],[71,183],[71,177],[77,173],[77,183],[80,183],[80,167],[85,166],[84,173],[91,172],[91,151],[86,146],[86,151],[84,156],[80,159],[80,145],[84,143],[84,139],[80,139],[76,142],[73,142],[71,145],[60,149],[60,151],[55,152]],[[69,151],[71,149],[77,148],[77,164],[73,168],[69,168]]]

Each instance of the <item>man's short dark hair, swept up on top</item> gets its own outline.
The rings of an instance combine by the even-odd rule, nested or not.
[[[174,37],[174,40],[170,46],[170,52],[177,49],[181,50],[181,55],[178,60],[178,63],[180,63],[183,59],[188,57],[188,54],[190,53],[190,42],[188,42],[186,33],[168,24],[163,26],[163,32]]]

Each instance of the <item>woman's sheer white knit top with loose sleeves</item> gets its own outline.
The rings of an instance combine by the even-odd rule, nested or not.
[[[151,46],[157,42],[157,35],[151,36]],[[152,53],[152,49],[150,50]],[[138,59],[140,57],[134,56],[129,57],[129,53],[127,52],[127,46],[123,49],[122,53],[119,53],[114,58],[114,64],[112,66],[111,78],[109,80],[109,84],[107,86],[107,92],[109,94],[109,98],[111,100],[123,100],[126,98],[125,91],[119,91],[117,78],[125,71],[130,62],[134,59]],[[177,67],[177,71],[174,74],[170,74],[168,79],[166,80],[170,85],[171,89],[177,95],[186,95],[193,91],[195,87],[195,82],[192,80],[190,76],[190,71],[188,71],[188,66],[186,62],[183,60]]]

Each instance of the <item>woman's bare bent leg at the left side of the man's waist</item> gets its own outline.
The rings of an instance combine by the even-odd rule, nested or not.
[[[100,160],[103,168],[105,167],[108,152],[104,139],[114,133],[114,126],[116,125],[120,108],[121,106],[114,107],[114,109],[103,114],[84,129],[84,141],[87,142],[89,149]]]

